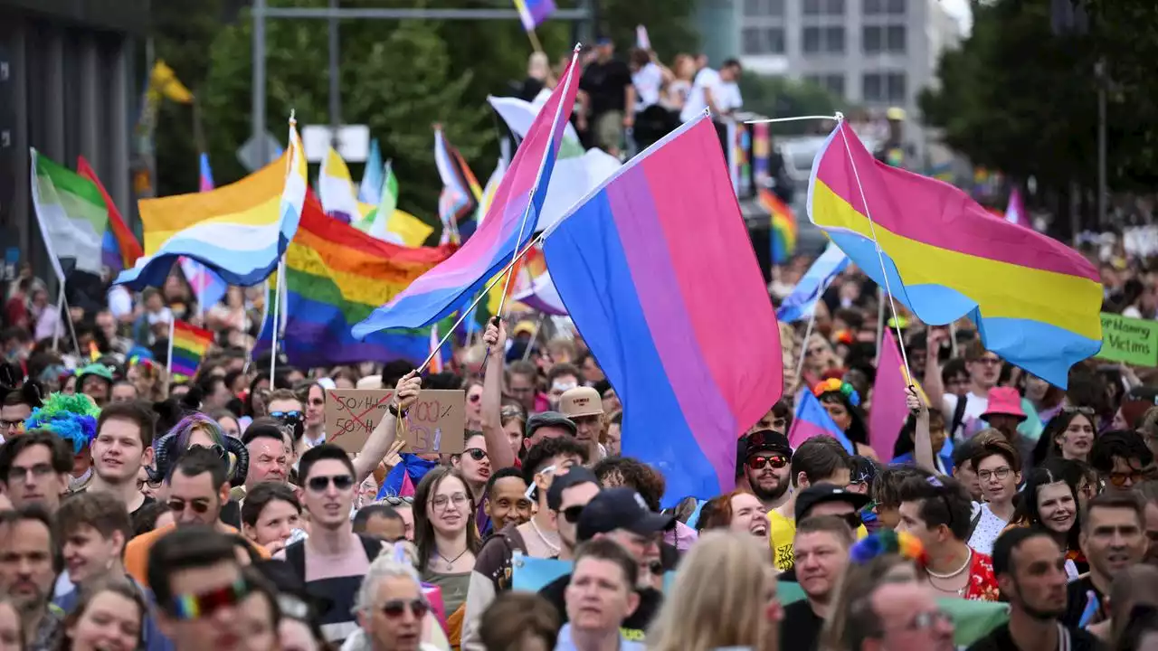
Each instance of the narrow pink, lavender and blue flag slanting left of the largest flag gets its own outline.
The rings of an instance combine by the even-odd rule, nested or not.
[[[572,56],[566,73],[519,145],[486,210],[486,219],[474,236],[446,262],[354,326],[356,337],[365,338],[387,328],[423,328],[447,316],[462,305],[464,297],[477,294],[511,263],[516,250],[527,246],[543,209],[563,127],[571,119],[578,76],[577,57]]]

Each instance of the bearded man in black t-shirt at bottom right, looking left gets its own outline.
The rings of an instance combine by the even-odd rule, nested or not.
[[[992,558],[1010,619],[969,651],[1099,649],[1098,638],[1058,621],[1065,613],[1065,555],[1053,534],[1039,528],[1009,529],[994,543]]]

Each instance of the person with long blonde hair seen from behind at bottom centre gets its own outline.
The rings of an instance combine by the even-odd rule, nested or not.
[[[776,651],[783,615],[775,571],[760,542],[745,534],[704,532],[680,563],[647,631],[647,649]]]

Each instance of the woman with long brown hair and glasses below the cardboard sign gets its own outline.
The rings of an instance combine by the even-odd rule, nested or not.
[[[462,626],[461,606],[467,601],[470,572],[478,551],[475,503],[470,488],[456,468],[439,466],[426,473],[415,489],[415,543],[423,580],[442,591],[452,643]]]

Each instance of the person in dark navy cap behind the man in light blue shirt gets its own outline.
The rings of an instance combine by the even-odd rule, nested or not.
[[[675,526],[675,517],[655,513],[638,492],[629,488],[613,488],[599,492],[579,515],[576,528],[577,543],[595,537],[608,537],[622,544],[639,565],[636,591],[639,607],[623,621],[628,639],[642,642],[644,631],[659,613],[664,595],[652,587],[654,575],[662,571],[659,542],[664,532]],[[563,622],[567,621],[566,587],[571,575],[547,584],[538,593],[555,605]]]

